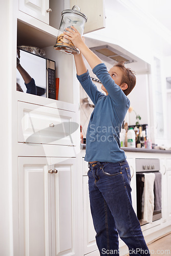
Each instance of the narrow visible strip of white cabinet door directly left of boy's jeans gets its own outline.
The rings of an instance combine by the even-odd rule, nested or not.
[[[83,234],[84,254],[97,250],[95,229],[90,209],[88,176],[83,176]],[[97,252],[98,253],[98,252]],[[99,254],[97,254],[99,255]]]

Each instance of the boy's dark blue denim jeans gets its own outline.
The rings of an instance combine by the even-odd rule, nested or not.
[[[89,195],[100,255],[119,255],[118,233],[133,255],[150,255],[132,206],[127,161],[89,164]]]

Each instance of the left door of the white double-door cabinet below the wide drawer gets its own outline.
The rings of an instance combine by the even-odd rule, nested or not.
[[[19,256],[51,255],[48,158],[18,157]]]

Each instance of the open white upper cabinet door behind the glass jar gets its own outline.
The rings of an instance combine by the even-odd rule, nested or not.
[[[104,0],[70,0],[70,8],[74,5],[78,5],[80,11],[88,17],[84,34],[105,28]]]

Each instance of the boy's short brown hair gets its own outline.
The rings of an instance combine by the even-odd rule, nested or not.
[[[130,68],[126,68],[124,66],[124,61],[119,61],[117,62],[114,67],[118,67],[123,71],[122,75],[122,81],[121,83],[126,83],[127,84],[127,89],[123,90],[124,94],[127,96],[131,93],[131,91],[134,89],[135,84],[136,84],[136,76],[135,72],[132,71]]]

